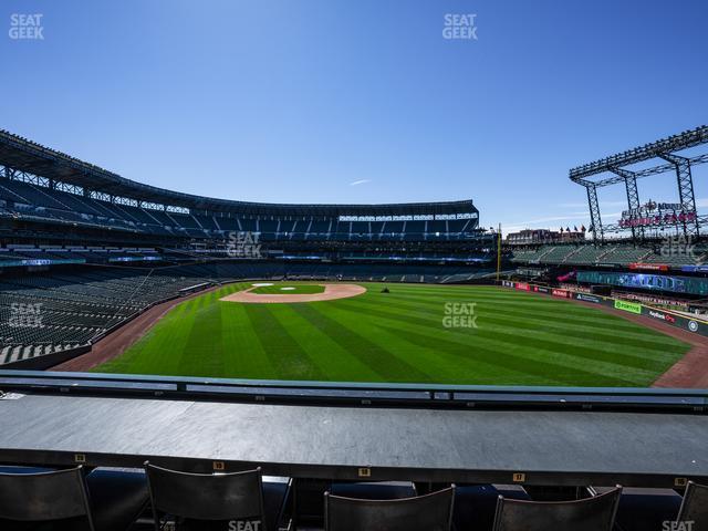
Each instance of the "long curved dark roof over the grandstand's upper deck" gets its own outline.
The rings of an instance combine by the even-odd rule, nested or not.
[[[274,216],[436,216],[479,214],[472,200],[382,205],[293,205],[236,201],[145,185],[0,129],[0,164],[84,190],[190,210]]]

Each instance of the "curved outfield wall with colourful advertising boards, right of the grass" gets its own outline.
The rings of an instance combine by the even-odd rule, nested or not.
[[[596,295],[594,293],[585,293],[581,291],[569,290],[565,288],[551,288],[549,285],[532,284],[529,282],[516,282],[511,280],[502,281],[501,285],[513,290],[528,291],[530,293],[541,293],[543,295],[555,296],[559,299],[572,299],[575,301],[600,304],[603,306],[613,308],[615,310],[621,310],[623,312],[633,313],[635,315],[644,315],[649,319],[663,321],[664,323],[670,324],[671,326],[708,336],[707,321],[702,321],[700,319],[690,319],[681,315],[680,313],[658,310],[653,306],[639,304],[638,302],[624,301],[621,299],[613,299],[611,296]]]

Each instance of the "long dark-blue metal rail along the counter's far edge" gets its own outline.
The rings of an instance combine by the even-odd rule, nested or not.
[[[365,406],[708,412],[708,389],[301,382],[0,369],[0,389]]]

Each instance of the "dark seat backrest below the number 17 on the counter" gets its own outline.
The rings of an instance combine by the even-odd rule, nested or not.
[[[502,496],[493,531],[611,531],[622,488],[584,500],[525,501]]]

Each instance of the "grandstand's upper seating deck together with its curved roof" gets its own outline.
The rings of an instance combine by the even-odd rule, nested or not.
[[[126,179],[7,132],[0,133],[0,165],[3,229],[12,229],[15,242],[34,231],[61,243],[217,249],[241,231],[281,250],[356,251],[378,242],[406,252],[444,252],[480,237],[471,200],[277,205],[194,196]]]

